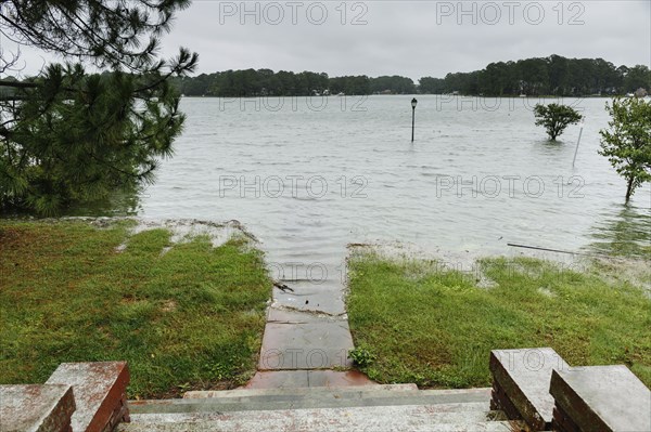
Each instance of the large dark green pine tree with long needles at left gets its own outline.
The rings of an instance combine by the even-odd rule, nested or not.
[[[38,76],[0,79],[0,207],[54,213],[75,200],[151,182],[171,154],[183,115],[170,78],[194,69],[181,49],[156,57],[188,0],[9,0],[0,34],[63,56]],[[20,52],[0,51],[0,73]],[[87,74],[82,64],[103,73]]]

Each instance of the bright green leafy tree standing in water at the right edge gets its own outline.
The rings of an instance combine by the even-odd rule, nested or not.
[[[642,99],[615,99],[605,104],[609,129],[601,130],[600,155],[608,157],[626,180],[626,202],[635,189],[651,181],[651,103]]]

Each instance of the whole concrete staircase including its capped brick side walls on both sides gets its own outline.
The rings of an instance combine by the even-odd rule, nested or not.
[[[490,371],[492,389],[467,390],[258,372],[247,389],[126,401],[126,363],[65,363],[44,384],[0,385],[0,432],[651,431],[651,392],[624,365],[570,367],[551,348],[513,349],[494,350]]]

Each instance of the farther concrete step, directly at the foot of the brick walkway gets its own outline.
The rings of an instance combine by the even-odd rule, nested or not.
[[[188,398],[131,401],[131,414],[229,413],[308,408],[441,405],[450,410],[489,409],[490,389],[427,390],[409,385],[192,392]],[[204,396],[204,397],[200,397]]]

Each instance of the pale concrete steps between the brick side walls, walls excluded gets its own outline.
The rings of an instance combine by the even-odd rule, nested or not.
[[[412,384],[188,392],[129,403],[144,431],[520,431],[490,410],[490,389],[418,390]]]

